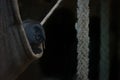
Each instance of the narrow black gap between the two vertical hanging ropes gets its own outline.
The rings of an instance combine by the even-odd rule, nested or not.
[[[100,0],[89,3],[89,79],[99,80],[100,66]]]

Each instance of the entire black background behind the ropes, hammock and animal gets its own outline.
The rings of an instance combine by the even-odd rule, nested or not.
[[[110,2],[110,80],[120,80],[120,1]],[[22,20],[39,22],[56,0],[19,0]],[[89,79],[99,80],[100,62],[100,0],[90,0]],[[41,59],[33,62],[19,80],[74,80],[77,72],[77,0],[63,0],[43,25],[46,49]],[[44,79],[44,77],[48,79]],[[57,79],[55,79],[57,78]]]

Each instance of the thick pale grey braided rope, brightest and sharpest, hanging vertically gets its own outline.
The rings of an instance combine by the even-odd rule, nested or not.
[[[77,30],[77,52],[78,52],[78,66],[77,66],[77,80],[89,80],[88,79],[88,45],[89,45],[89,0],[78,0],[77,18],[76,23]]]

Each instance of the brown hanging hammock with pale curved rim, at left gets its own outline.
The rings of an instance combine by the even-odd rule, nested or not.
[[[0,0],[0,80],[15,80],[41,56],[25,36],[17,0]]]

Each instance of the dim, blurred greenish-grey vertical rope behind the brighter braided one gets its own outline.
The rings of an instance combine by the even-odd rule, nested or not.
[[[109,80],[109,0],[101,0],[100,80]]]

